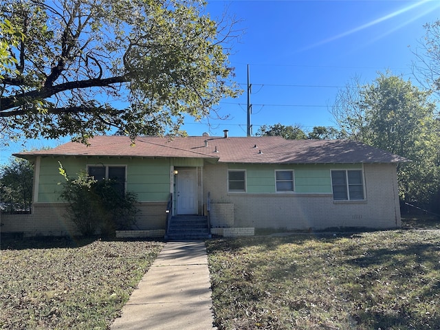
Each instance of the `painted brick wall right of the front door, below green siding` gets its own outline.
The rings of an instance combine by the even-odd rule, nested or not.
[[[236,228],[320,230],[401,225],[394,164],[364,165],[365,201],[333,201],[332,194],[228,193],[225,164],[206,164],[203,174],[204,189],[211,192],[211,205],[234,205]],[[220,219],[214,221],[221,223]]]

